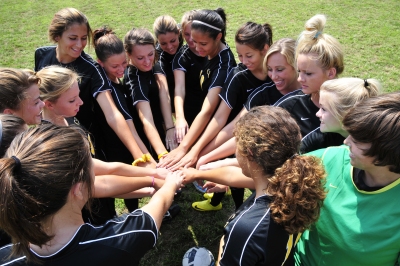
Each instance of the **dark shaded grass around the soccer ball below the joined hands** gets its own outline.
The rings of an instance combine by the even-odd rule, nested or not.
[[[205,247],[217,258],[223,228],[234,212],[235,205],[230,196],[225,196],[222,210],[198,212],[191,205],[192,202],[200,200],[204,200],[203,195],[192,185],[183,189],[174,201],[174,204],[180,205],[181,213],[169,223],[162,224],[157,244],[143,257],[141,266],[182,265],[183,255],[193,246]],[[141,200],[142,204],[146,202],[146,199]]]

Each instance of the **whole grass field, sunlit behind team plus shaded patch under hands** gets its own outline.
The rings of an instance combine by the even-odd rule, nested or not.
[[[117,3],[117,4],[114,4]],[[311,16],[327,15],[325,33],[336,37],[345,50],[345,71],[341,75],[376,78],[386,91],[400,88],[400,1],[160,1],[160,0],[1,0],[0,66],[33,69],[37,47],[50,44],[47,27],[55,12],[75,7],[89,18],[91,27],[109,25],[120,38],[132,27],[152,28],[159,15],[169,14],[180,21],[190,9],[225,8],[228,16],[227,41],[234,49],[236,29],[247,21],[268,22],[273,26],[274,40],[297,38]],[[93,55],[93,49],[86,49]],[[400,103],[399,103],[400,104]],[[233,201],[225,197],[219,212],[198,213],[191,209],[202,195],[188,186],[176,200],[182,213],[161,228],[156,247],[141,265],[180,265],[182,256],[192,246],[205,246],[216,256],[219,239],[227,218],[233,212]],[[142,204],[146,201],[143,200]],[[119,211],[123,204],[118,203]]]

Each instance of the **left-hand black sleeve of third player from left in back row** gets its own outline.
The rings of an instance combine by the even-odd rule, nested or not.
[[[150,102],[149,86],[142,80],[142,77],[138,74],[138,70],[130,68],[125,75],[126,84],[132,96],[133,105],[135,106],[138,102]]]

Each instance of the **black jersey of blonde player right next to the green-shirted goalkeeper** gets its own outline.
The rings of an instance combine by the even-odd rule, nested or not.
[[[338,133],[321,132],[320,127],[317,127],[301,140],[300,152],[304,154],[330,146],[340,146],[343,144],[344,139]]]

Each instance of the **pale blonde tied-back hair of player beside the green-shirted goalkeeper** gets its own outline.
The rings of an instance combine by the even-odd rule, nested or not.
[[[340,78],[327,80],[321,86],[320,94],[331,93],[334,97],[326,97],[326,108],[339,121],[356,103],[382,91],[382,85],[376,79]]]

